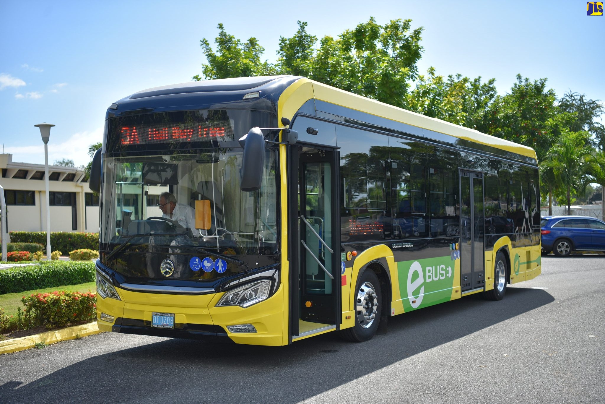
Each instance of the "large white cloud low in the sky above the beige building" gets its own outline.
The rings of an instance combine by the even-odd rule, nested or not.
[[[36,129],[36,128],[34,128]],[[40,137],[36,137],[40,144],[29,146],[7,146],[5,153],[13,154],[13,161],[34,164],[44,164],[44,143]],[[55,140],[55,142],[53,142]],[[48,162],[60,159],[70,159],[74,161],[76,167],[87,165],[90,161],[88,148],[91,144],[103,141],[103,128],[94,131],[83,131],[74,133],[67,140],[57,143],[59,139],[53,138],[53,131],[50,131],[50,141],[48,142]]]

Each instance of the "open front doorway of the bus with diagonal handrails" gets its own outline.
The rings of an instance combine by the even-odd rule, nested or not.
[[[292,340],[337,329],[342,317],[338,151],[316,147],[289,155]]]

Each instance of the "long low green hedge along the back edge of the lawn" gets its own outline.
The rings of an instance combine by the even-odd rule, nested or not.
[[[39,265],[0,270],[0,294],[94,282],[94,262],[42,261]]]

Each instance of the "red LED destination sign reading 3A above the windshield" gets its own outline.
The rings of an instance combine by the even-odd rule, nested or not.
[[[166,142],[232,141],[231,121],[192,122],[186,124],[131,125],[120,128],[122,145]]]

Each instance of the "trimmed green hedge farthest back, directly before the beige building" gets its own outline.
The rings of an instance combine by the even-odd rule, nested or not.
[[[39,243],[46,246],[45,231],[10,231],[13,243]],[[68,231],[50,232],[50,247],[59,251],[73,251],[80,248],[99,250],[99,233],[70,233]],[[44,247],[46,249],[46,247]],[[22,250],[24,251],[24,250]],[[30,251],[33,252],[33,251]]]

